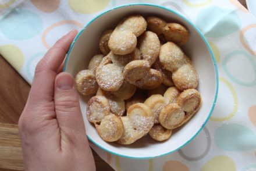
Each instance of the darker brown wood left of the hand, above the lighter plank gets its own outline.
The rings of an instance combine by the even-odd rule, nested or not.
[[[29,95],[30,85],[0,57],[0,122],[17,124]]]

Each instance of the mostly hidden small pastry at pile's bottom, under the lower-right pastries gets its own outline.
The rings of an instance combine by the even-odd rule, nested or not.
[[[148,132],[151,138],[157,141],[165,141],[172,135],[172,130],[165,129],[161,124],[155,124]]]

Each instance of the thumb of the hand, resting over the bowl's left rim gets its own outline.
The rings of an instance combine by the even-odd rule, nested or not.
[[[61,138],[74,141],[74,143],[85,140],[86,130],[81,115],[79,98],[74,87],[73,77],[69,73],[59,73],[56,76],[54,103]]]

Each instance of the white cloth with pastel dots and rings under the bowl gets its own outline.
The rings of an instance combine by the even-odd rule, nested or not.
[[[256,170],[256,18],[236,0],[2,0],[0,54],[31,83],[35,65],[63,34],[134,2],[176,10],[204,33],[219,69],[216,107],[190,144],[161,158],[126,159],[91,147],[116,170]]]

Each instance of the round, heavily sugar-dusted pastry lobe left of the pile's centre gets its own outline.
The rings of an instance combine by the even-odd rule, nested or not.
[[[105,56],[96,70],[97,83],[105,91],[118,90],[124,80],[122,69],[111,62],[111,58]]]

